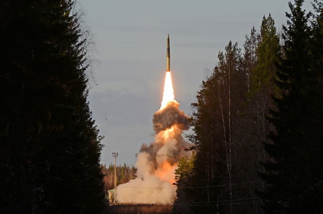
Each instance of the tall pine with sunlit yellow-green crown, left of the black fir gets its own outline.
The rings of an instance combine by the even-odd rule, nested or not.
[[[244,103],[240,122],[239,122],[239,136],[241,143],[237,145],[238,151],[243,151],[243,154],[238,161],[238,167],[243,173],[238,174],[238,177],[243,178],[244,181],[254,182],[259,181],[260,178],[257,172],[262,172],[260,161],[265,161],[267,155],[263,148],[263,142],[268,141],[266,136],[274,131],[274,125],[269,123],[266,119],[271,108],[275,109],[275,105],[271,99],[272,94],[279,94],[274,84],[274,77],[276,72],[275,62],[281,54],[281,47],[279,42],[279,35],[276,31],[275,21],[271,14],[267,17],[263,16],[259,33],[251,30],[250,38],[254,38],[254,45],[246,36],[244,62],[250,61],[248,53],[250,49],[254,49],[254,57],[252,67],[244,69],[249,70],[250,73],[250,90],[247,93],[247,100]],[[263,189],[263,183],[251,183],[249,185],[248,198],[256,198],[257,194],[254,189]],[[248,193],[246,193],[248,194]],[[259,212],[259,206],[254,212]]]

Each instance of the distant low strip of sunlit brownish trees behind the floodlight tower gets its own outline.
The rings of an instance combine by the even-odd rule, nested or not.
[[[115,164],[110,163],[109,166],[101,165],[101,171],[104,175],[104,192],[107,194],[108,190],[115,188]],[[130,180],[135,179],[137,169],[134,165],[128,165],[124,163],[123,165],[119,164],[116,167],[117,171],[117,186],[119,184],[128,183]]]

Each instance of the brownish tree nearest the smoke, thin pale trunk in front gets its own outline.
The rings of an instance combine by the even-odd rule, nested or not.
[[[236,124],[247,84],[237,43],[230,41],[218,58],[213,74],[202,82],[197,102],[192,104],[194,135],[190,140],[196,156],[191,186],[202,188],[193,188],[188,195],[194,202],[204,204],[194,204],[196,212],[229,213],[234,209],[232,204],[219,206],[216,201],[233,199]]]

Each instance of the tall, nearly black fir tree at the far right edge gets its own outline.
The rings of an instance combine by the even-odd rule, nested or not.
[[[262,163],[267,188],[260,193],[266,213],[322,213],[322,96],[319,73],[312,69],[312,14],[303,1],[289,3],[283,26],[283,57],[277,63],[276,85],[282,97],[273,97],[277,110],[269,117],[276,128],[265,145],[270,160]],[[315,66],[314,66],[315,67]]]

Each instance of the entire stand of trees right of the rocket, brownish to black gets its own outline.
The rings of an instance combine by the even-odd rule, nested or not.
[[[220,51],[192,104],[178,209],[323,212],[323,4],[302,4],[289,3],[281,33],[269,14],[243,51],[232,41]]]

